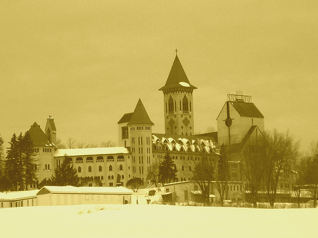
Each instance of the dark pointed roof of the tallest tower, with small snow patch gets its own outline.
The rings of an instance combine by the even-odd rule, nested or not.
[[[163,91],[170,88],[188,88],[196,89],[195,86],[191,85],[187,75],[185,74],[183,67],[180,63],[178,56],[175,56],[169,76],[165,85],[159,90]]]

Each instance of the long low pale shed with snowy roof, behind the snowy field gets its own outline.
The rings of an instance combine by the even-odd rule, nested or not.
[[[37,193],[37,201],[38,206],[129,204],[132,193],[126,187],[44,186]]]

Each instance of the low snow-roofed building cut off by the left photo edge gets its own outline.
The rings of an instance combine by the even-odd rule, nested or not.
[[[0,208],[36,206],[39,190],[0,192]]]

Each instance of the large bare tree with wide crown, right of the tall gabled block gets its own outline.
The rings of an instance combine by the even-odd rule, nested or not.
[[[265,135],[268,143],[267,156],[264,161],[264,184],[269,204],[274,208],[279,179],[294,164],[299,152],[299,142],[286,131],[273,130]]]

